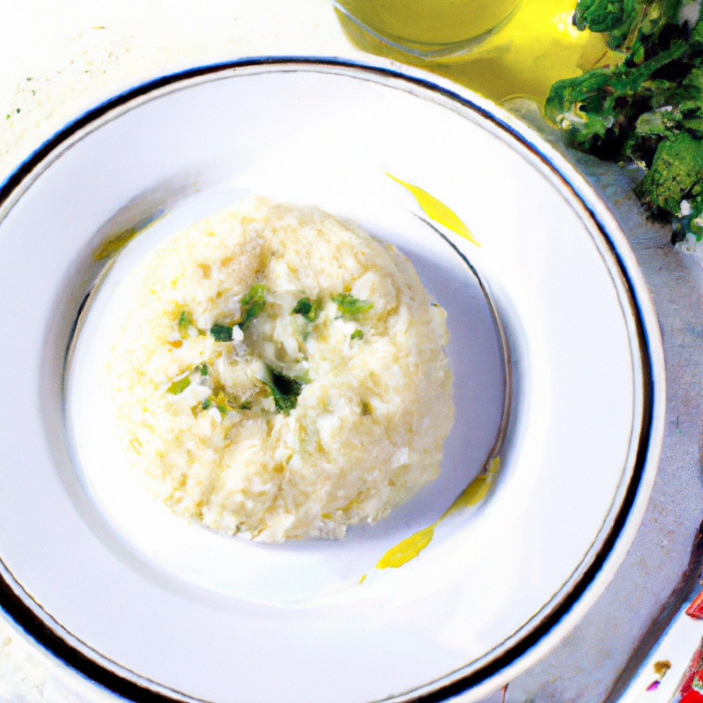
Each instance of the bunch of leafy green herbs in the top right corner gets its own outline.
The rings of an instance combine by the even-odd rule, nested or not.
[[[574,24],[606,32],[623,63],[552,86],[545,114],[569,144],[645,171],[635,188],[672,241],[703,238],[703,20],[678,22],[683,0],[579,0]]]

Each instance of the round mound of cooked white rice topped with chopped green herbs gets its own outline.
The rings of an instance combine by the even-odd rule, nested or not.
[[[446,314],[392,245],[247,198],[133,275],[110,382],[131,465],[177,514],[259,541],[340,538],[439,475]]]

